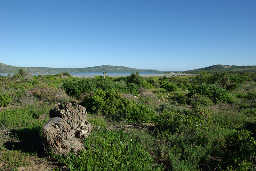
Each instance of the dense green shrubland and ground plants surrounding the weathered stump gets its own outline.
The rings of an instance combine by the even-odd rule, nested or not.
[[[20,70],[0,80],[0,158],[6,170],[25,165],[17,154],[45,152],[68,170],[256,168],[255,72],[73,78]],[[64,157],[44,151],[40,139],[29,148],[10,143],[43,136],[48,112],[64,101],[89,113],[94,130],[84,142],[87,152]]]

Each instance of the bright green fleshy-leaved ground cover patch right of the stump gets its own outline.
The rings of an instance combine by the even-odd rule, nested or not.
[[[70,154],[69,158],[53,157],[62,161],[69,170],[163,170],[153,163],[154,158],[129,133],[111,130],[93,132],[85,139],[86,152],[79,156]]]

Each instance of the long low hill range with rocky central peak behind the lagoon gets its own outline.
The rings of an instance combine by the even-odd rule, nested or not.
[[[16,67],[0,63],[0,73],[17,73],[24,69],[29,73],[36,72],[160,72],[158,70],[141,70],[125,66],[101,65],[87,68],[46,68],[46,67]]]

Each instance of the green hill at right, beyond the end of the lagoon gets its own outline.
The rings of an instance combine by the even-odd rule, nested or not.
[[[188,70],[183,72],[199,72],[199,71],[216,71],[216,72],[222,72],[222,71],[256,71],[256,65],[243,65],[243,66],[237,66],[237,65],[212,65],[205,68],[198,68],[194,70]]]

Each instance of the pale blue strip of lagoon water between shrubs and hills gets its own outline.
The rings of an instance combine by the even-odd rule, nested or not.
[[[109,77],[125,77],[125,76],[128,76],[128,75],[131,75],[132,72],[108,72],[107,73],[107,76]],[[0,73],[0,75],[2,76],[8,76],[9,73]],[[14,74],[14,73],[10,73],[11,76]],[[30,73],[31,75],[55,75],[55,74],[58,74],[58,72],[51,72],[51,73]],[[70,72],[70,75],[73,76],[73,77],[79,77],[79,78],[94,78],[96,75],[100,75],[100,76],[103,76],[103,73],[102,72]],[[164,74],[164,73],[160,73],[160,72],[140,72],[139,73],[140,76],[142,77],[157,77],[157,76],[175,76],[175,75],[195,75],[195,74]]]

